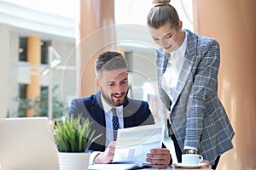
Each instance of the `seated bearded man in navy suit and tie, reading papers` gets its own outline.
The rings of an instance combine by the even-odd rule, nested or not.
[[[100,54],[96,59],[95,71],[96,86],[100,91],[89,97],[73,99],[67,115],[89,117],[96,135],[102,133],[102,137],[90,145],[90,150],[94,151],[90,155],[90,162],[110,163],[115,148],[116,125],[125,128],[154,124],[154,117],[147,102],[127,97],[128,66],[121,54]],[[147,156],[146,161],[154,168],[166,168],[171,162],[170,152],[164,148],[152,149]]]

